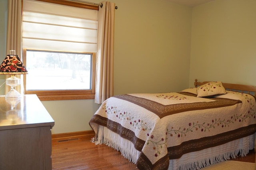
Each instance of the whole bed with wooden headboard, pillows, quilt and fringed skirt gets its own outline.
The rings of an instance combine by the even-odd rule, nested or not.
[[[194,85],[108,98],[90,119],[93,142],[119,150],[140,170],[196,170],[254,149],[256,88]]]

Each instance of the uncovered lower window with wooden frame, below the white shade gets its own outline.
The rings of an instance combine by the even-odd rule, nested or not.
[[[41,100],[94,98],[95,53],[23,51],[26,94]]]

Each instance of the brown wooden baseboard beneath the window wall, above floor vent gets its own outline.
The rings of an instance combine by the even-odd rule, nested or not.
[[[92,135],[92,137],[93,137],[95,135],[95,133],[93,130],[70,132],[70,133],[57,133],[57,134],[52,134],[52,139],[83,137],[83,136],[88,136],[88,135]]]

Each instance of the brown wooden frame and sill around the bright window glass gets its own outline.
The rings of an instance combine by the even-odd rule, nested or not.
[[[23,48],[23,64],[26,67],[26,51],[53,51],[53,50],[41,50],[41,49],[28,49]],[[78,53],[76,51],[56,51],[64,53]],[[80,52],[79,52],[80,53]],[[96,73],[96,53],[83,52],[85,54],[92,54],[92,89],[89,90],[26,90],[26,74],[24,74],[24,93],[25,94],[36,94],[41,101],[50,100],[83,100],[83,99],[94,99],[95,98],[95,73]],[[29,74],[29,72],[28,72]]]

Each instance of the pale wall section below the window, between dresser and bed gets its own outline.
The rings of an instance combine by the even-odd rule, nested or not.
[[[55,121],[52,134],[92,130],[89,121],[98,104],[94,100],[42,101]]]

